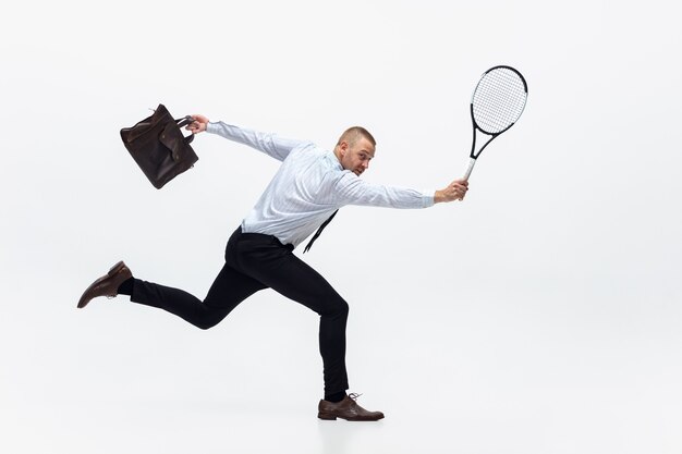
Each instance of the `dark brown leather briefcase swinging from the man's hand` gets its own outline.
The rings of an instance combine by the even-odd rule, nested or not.
[[[199,159],[190,146],[194,134],[185,137],[180,130],[192,121],[188,115],[174,120],[168,109],[159,105],[153,115],[121,130],[125,148],[157,189]]]

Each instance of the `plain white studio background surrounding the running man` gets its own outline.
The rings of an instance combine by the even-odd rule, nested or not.
[[[0,14],[0,451],[682,452],[682,33],[672,1],[24,1]],[[156,191],[119,130],[163,102],[444,186],[480,73],[523,118],[464,203],[344,208],[304,259],[349,300],[377,424],[318,421],[317,316],[264,291],[200,331],[119,297],[120,259],[199,297],[277,161],[196,137]],[[300,254],[300,251],[297,253]]]

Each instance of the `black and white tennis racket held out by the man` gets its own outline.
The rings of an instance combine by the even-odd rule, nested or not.
[[[527,97],[526,79],[513,68],[495,66],[483,74],[472,95],[471,113],[474,138],[464,180],[468,180],[476,159],[488,144],[516,123],[526,106]],[[478,132],[490,138],[476,151]]]

